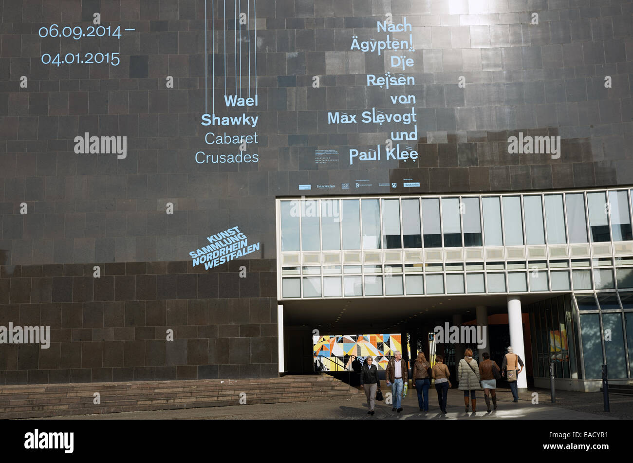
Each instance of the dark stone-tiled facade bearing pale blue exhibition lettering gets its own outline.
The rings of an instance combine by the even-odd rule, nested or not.
[[[225,74],[235,79],[224,65],[235,45],[227,40],[226,56],[220,48],[223,27],[235,30],[233,2],[226,21],[213,3],[206,63],[204,0],[0,2],[0,325],[53,333],[47,350],[0,345],[0,383],[276,376],[275,197],[632,183],[633,2],[484,3],[473,12],[466,1],[257,0],[259,105],[216,111],[260,117],[260,161],[218,165],[194,154],[227,151],[205,144],[206,132],[244,131],[200,125],[205,68],[216,76],[209,105],[222,101]],[[240,4],[252,13],[253,0]],[[103,25],[135,32],[38,35],[52,23],[85,28],[96,11]],[[539,25],[530,24],[535,11]],[[394,92],[366,85],[367,73],[388,70],[387,58],[350,51],[352,35],[384,37],[376,22],[385,13],[413,27],[416,85],[406,94],[417,98],[420,157],[350,166],[348,147],[383,143],[387,132],[330,125],[327,113],[394,107]],[[241,43],[251,42],[253,27]],[[45,52],[99,51],[119,52],[120,65],[41,62]],[[75,154],[85,132],[127,136],[127,157]],[[560,135],[560,159],[508,154],[519,132]],[[339,159],[315,163],[315,150],[330,147]],[[342,189],[358,179],[373,186]],[[261,250],[192,268],[188,252],[232,226]],[[101,278],[92,278],[95,265]],[[175,340],[166,342],[170,327]]]

